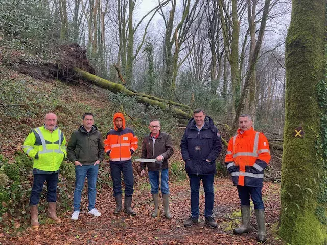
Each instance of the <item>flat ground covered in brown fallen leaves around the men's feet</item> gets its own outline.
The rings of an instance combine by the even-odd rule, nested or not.
[[[63,213],[60,224],[47,220],[38,230],[27,228],[14,236],[2,234],[2,244],[256,244],[256,221],[252,209],[253,231],[233,235],[232,228],[240,222],[240,205],[237,189],[229,178],[215,178],[214,215],[220,227],[209,228],[204,223],[204,192],[200,189],[201,223],[191,228],[183,227],[183,219],[190,214],[189,181],[170,183],[172,220],[164,217],[161,202],[161,220],[151,218],[153,209],[150,186],[147,179],[134,186],[132,207],[137,215],[132,217],[121,212],[113,215],[115,207],[112,190],[97,195],[100,217],[87,214],[87,194],[83,194],[82,211],[78,221],[71,220],[71,211]],[[87,189],[87,188],[84,188]],[[275,230],[279,215],[279,185],[265,182],[263,200],[266,208],[268,240],[265,244],[283,244]],[[45,215],[45,214],[42,214]]]

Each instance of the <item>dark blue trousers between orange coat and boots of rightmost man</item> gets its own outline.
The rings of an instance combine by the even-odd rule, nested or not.
[[[250,195],[255,209],[265,209],[264,202],[261,195],[262,187],[251,187],[237,185],[241,205],[250,206]]]

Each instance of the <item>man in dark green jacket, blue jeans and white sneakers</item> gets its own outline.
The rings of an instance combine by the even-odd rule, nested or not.
[[[95,205],[96,183],[99,163],[103,160],[104,144],[101,133],[93,124],[93,114],[85,113],[83,115],[83,125],[73,132],[67,146],[68,158],[75,164],[76,175],[72,220],[77,220],[80,214],[81,193],[86,176],[88,183],[88,213],[96,217],[101,216]]]

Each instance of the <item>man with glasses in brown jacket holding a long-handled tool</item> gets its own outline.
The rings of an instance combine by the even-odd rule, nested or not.
[[[173,143],[169,134],[160,131],[160,121],[151,120],[150,134],[146,136],[142,143],[142,158],[156,159],[163,161],[161,171],[161,193],[164,200],[165,217],[172,218],[169,212],[169,187],[168,187],[168,158],[174,154]],[[156,163],[141,162],[141,173],[145,173],[145,167],[148,166],[149,180],[151,184],[151,194],[154,202],[154,212],[152,217],[156,217],[159,207],[159,165]]]

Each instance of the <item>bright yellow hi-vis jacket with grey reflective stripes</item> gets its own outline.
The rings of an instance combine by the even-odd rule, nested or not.
[[[33,158],[33,168],[41,171],[58,171],[67,155],[66,138],[58,127],[50,132],[43,125],[29,133],[22,150]]]

